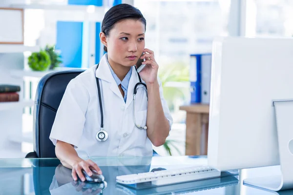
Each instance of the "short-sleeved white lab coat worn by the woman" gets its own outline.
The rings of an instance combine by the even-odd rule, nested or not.
[[[133,119],[133,89],[139,78],[132,68],[127,89],[126,103],[113,78],[104,55],[92,66],[72,79],[58,108],[50,139],[54,145],[61,140],[74,145],[81,158],[94,156],[152,156],[152,144],[146,130],[138,129]],[[101,111],[96,77],[100,78],[104,130],[108,139],[100,142],[96,134],[101,129]],[[163,98],[162,83],[160,97],[170,128],[172,117]],[[136,123],[146,126],[147,97],[144,89],[138,89],[135,100]]]

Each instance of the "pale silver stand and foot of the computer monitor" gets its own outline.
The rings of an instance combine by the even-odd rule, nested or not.
[[[273,100],[281,174],[244,179],[243,183],[272,191],[293,189],[293,99]]]

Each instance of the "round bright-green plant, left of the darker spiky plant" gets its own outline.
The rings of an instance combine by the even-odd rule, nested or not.
[[[50,64],[50,55],[44,50],[34,52],[28,57],[28,65],[34,71],[45,71]]]

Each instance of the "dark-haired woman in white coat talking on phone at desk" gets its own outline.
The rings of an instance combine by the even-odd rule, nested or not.
[[[89,167],[102,174],[96,163],[85,158],[152,156],[152,144],[165,143],[172,117],[157,78],[154,53],[145,48],[145,31],[146,20],[138,9],[128,4],[109,9],[100,33],[107,53],[66,88],[50,139],[75,180],[78,175],[84,181],[82,169],[91,176]],[[140,57],[146,59],[146,67],[138,74],[134,64]],[[140,78],[146,87],[137,87],[134,101]]]

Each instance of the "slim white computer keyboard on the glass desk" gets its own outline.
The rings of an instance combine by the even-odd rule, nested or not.
[[[196,166],[117,176],[116,181],[122,184],[136,184],[151,181],[154,185],[167,185],[219,176],[221,176],[221,172],[216,169],[210,168],[209,166]]]

